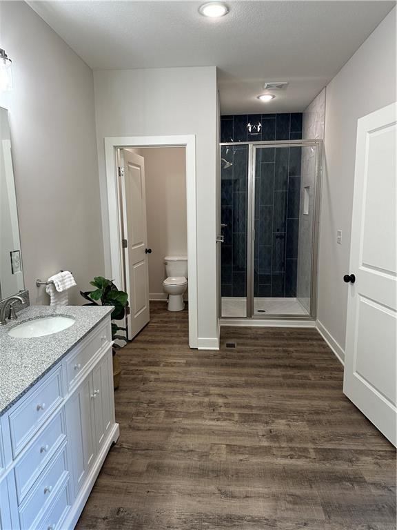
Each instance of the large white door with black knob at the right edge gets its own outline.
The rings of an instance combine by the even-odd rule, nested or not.
[[[343,391],[396,445],[396,112],[360,118]],[[350,277],[352,279],[352,277]],[[349,277],[345,277],[349,281]]]

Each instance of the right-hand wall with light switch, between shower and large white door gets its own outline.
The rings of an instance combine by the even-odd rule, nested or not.
[[[396,8],[327,86],[318,321],[342,353],[348,292],[343,275],[349,272],[357,119],[394,101]],[[341,245],[336,244],[338,229],[343,232]]]

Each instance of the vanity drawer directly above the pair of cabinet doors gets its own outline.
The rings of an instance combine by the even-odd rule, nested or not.
[[[78,384],[81,379],[85,376],[85,366],[90,362],[92,357],[104,348],[108,346],[112,340],[112,331],[110,322],[106,320],[99,328],[94,329],[85,337],[85,339],[77,346],[76,352],[70,355],[70,358],[66,361],[66,377],[68,380],[68,391],[73,386]]]

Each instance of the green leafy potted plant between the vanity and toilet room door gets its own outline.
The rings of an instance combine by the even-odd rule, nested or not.
[[[94,281],[90,284],[95,287],[94,291],[80,291],[81,296],[88,300],[90,303],[85,304],[86,306],[99,306],[99,301],[103,306],[113,306],[114,309],[110,315],[113,320],[121,320],[125,316],[125,310],[128,307],[128,294],[119,289],[114,285],[111,279],[106,279],[103,276],[94,277]],[[123,335],[119,335],[119,331],[127,331],[126,328],[117,326],[112,322],[112,340],[121,340],[127,342],[127,338]],[[121,346],[119,344],[113,344],[113,382],[114,388],[117,389],[120,384],[120,362],[119,357],[116,355],[116,350],[119,350]]]

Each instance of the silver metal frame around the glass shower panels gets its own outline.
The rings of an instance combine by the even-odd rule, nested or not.
[[[221,175],[222,160],[221,148],[223,146],[248,146],[248,179],[247,179],[247,293],[245,317],[223,317],[222,296],[219,297],[220,320],[287,320],[287,321],[312,321],[316,320],[317,312],[317,262],[318,262],[318,228],[320,220],[320,189],[323,170],[323,140],[268,140],[268,141],[225,141],[219,143],[219,175]],[[310,312],[308,315],[292,315],[273,313],[272,315],[254,314],[254,251],[255,251],[255,154],[257,148],[275,147],[315,147],[316,148],[316,175],[314,180],[314,212],[313,212],[313,234],[312,234],[312,273],[310,278]],[[219,179],[221,186],[222,177]],[[219,193],[219,219],[221,218],[221,193]],[[220,221],[219,221],[220,224]],[[220,267],[221,270],[221,267]],[[221,283],[221,278],[219,278]]]

